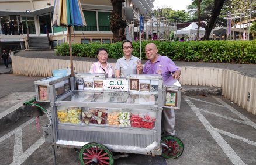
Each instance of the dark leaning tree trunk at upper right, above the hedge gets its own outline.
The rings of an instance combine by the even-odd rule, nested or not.
[[[222,10],[222,6],[225,0],[215,0],[215,4],[212,10],[212,16],[210,17],[209,23],[205,27],[205,40],[209,40],[210,33],[212,32],[212,28],[215,24],[217,17],[220,15],[220,10]]]

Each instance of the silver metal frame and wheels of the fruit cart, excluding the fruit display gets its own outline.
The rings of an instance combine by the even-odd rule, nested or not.
[[[80,74],[81,75],[81,74]],[[104,77],[104,76],[103,76]],[[181,87],[162,87],[162,80],[159,76],[153,75],[132,75],[127,80],[158,80],[158,92],[139,92],[139,91],[121,91],[124,94],[141,94],[155,95],[157,103],[155,104],[134,104],[134,103],[109,103],[109,102],[71,102],[64,101],[65,98],[79,92],[75,90],[75,77],[64,77],[54,80],[51,83],[42,84],[41,80],[36,81],[36,96],[39,100],[39,86],[47,86],[47,95],[49,96],[44,102],[50,102],[50,123],[43,127],[46,141],[53,146],[54,164],[55,149],[54,146],[64,146],[68,148],[81,149],[79,157],[82,164],[113,164],[113,155],[111,151],[122,153],[138,153],[150,155],[162,155],[167,159],[179,157],[183,152],[182,142],[173,136],[161,137],[161,114],[162,108],[179,108],[181,99]],[[105,78],[103,78],[105,79]],[[55,84],[60,81],[70,82],[70,90],[57,95]],[[130,82],[130,81],[129,81]],[[176,104],[173,106],[165,106],[166,91],[174,90],[176,96]],[[80,91],[91,93],[105,93],[111,91]],[[117,92],[117,91],[112,91]],[[30,101],[31,102],[31,101]],[[26,102],[29,104],[30,102]],[[115,127],[107,125],[79,125],[79,124],[61,124],[58,122],[58,107],[86,107],[86,108],[103,108],[116,109],[119,112],[137,110],[138,112],[155,112],[155,128],[153,130],[146,128],[134,127]],[[44,111],[45,112],[45,111]],[[45,112],[49,116],[49,112]]]

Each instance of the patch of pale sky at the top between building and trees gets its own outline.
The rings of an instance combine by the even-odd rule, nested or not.
[[[192,0],[155,0],[154,8],[162,8],[162,6],[170,7],[172,10],[186,10],[186,6],[191,5]]]

